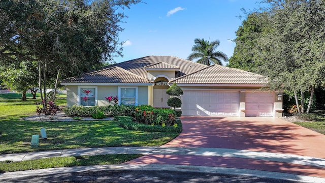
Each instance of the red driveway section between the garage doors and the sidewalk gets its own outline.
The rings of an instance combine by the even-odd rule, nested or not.
[[[181,117],[164,146],[233,148],[325,158],[325,135],[276,117]]]

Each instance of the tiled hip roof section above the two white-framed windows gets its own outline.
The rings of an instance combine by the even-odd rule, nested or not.
[[[68,78],[61,81],[72,83],[151,83],[146,78],[138,76],[120,67],[114,66],[103,70],[90,72],[80,77]]]

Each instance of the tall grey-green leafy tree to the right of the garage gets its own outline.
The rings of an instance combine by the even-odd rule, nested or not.
[[[263,25],[262,32],[245,44],[236,45],[241,50],[236,57],[245,57],[249,49],[255,71],[266,75],[273,89],[287,89],[301,93],[301,109],[304,109],[304,93],[310,92],[306,112],[310,111],[314,89],[325,85],[325,2],[319,0],[268,0],[264,12],[254,25]],[[252,13],[248,18],[251,20]],[[262,17],[262,18],[261,18]],[[248,22],[248,21],[247,21]],[[243,23],[243,26],[249,26]],[[240,31],[240,30],[239,30]],[[249,35],[256,31],[249,30]],[[257,31],[258,32],[258,31]],[[238,37],[239,38],[239,37]],[[239,38],[240,39],[240,38]],[[237,43],[237,42],[236,42]],[[244,45],[244,46],[243,46]],[[243,46],[243,47],[241,47]],[[235,60],[235,57],[234,57]],[[233,59],[231,59],[231,62]],[[240,61],[238,61],[240,63]],[[246,60],[243,59],[245,65]],[[234,65],[233,65],[234,66]],[[237,66],[236,66],[237,67]]]

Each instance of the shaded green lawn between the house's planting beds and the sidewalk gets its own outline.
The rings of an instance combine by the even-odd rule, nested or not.
[[[179,133],[142,132],[120,128],[117,121],[27,121],[21,117],[36,114],[35,102],[28,99],[0,100],[0,154],[28,151],[112,147],[112,146],[159,146],[178,136]],[[57,104],[66,103],[59,99]],[[31,136],[45,128],[47,140],[40,139],[37,148],[30,147]],[[40,136],[41,137],[41,136]]]

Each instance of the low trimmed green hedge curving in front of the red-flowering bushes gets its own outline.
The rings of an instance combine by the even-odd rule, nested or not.
[[[176,120],[175,124],[177,127],[163,127],[160,125],[145,125],[137,123],[133,121],[133,117],[130,116],[115,116],[115,120],[118,121],[118,125],[122,128],[128,130],[137,130],[137,131],[145,131],[145,132],[182,132],[182,122],[181,120]]]

